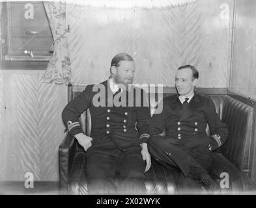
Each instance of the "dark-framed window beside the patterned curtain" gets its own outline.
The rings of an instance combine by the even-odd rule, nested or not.
[[[26,66],[46,65],[52,53],[53,38],[42,1],[4,3],[1,14],[3,65],[14,62],[27,62]]]

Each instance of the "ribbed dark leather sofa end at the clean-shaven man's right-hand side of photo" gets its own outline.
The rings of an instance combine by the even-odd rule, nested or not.
[[[239,170],[249,176],[253,170],[253,107],[227,97],[223,102],[222,121],[227,123],[229,138],[221,146],[221,151]]]

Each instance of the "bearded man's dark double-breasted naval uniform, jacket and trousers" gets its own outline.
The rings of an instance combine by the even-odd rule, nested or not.
[[[128,91],[118,88],[110,78],[88,85],[63,110],[63,121],[73,136],[83,133],[78,122],[81,113],[88,108],[91,112],[92,146],[86,153],[89,193],[145,192],[140,144],[149,138],[150,111],[143,105],[144,91],[139,89],[141,98],[137,98],[137,90],[135,86]],[[95,98],[100,106],[95,105]]]

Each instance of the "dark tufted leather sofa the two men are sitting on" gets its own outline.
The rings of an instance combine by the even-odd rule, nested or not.
[[[74,90],[68,86],[68,99],[74,99],[84,89]],[[203,94],[203,92],[199,92]],[[163,96],[170,96],[164,93]],[[235,96],[227,94],[208,94],[214,101],[216,112],[221,120],[228,125],[229,138],[213,153],[214,161],[210,175],[220,182],[221,173],[228,174],[228,185],[221,188],[221,193],[230,194],[236,192],[255,191],[255,178],[253,170],[255,163],[255,138],[253,138],[253,106],[236,99]],[[81,114],[80,123],[85,134],[91,131],[91,118],[89,110]],[[206,129],[209,133],[209,129]],[[63,194],[88,194],[85,151],[74,137],[69,133],[59,146],[59,176],[60,187]],[[191,194],[178,188],[179,170],[177,168],[166,168],[158,161],[152,159],[150,170],[146,172],[145,185],[147,194]],[[193,194],[193,193],[192,193]]]

